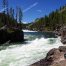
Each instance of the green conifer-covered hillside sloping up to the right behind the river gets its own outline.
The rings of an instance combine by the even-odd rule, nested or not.
[[[51,12],[45,17],[37,18],[29,29],[37,31],[54,31],[59,30],[66,25],[66,5],[56,11]]]

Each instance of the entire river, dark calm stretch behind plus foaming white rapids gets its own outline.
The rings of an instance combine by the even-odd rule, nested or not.
[[[43,59],[52,48],[62,45],[52,33],[24,32],[21,44],[0,46],[0,66],[29,66]]]

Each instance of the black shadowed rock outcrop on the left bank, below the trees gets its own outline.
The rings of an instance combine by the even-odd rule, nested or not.
[[[21,30],[14,30],[13,32],[7,31],[7,26],[3,26],[0,29],[0,45],[6,43],[7,41],[11,42],[23,42],[24,33]]]

